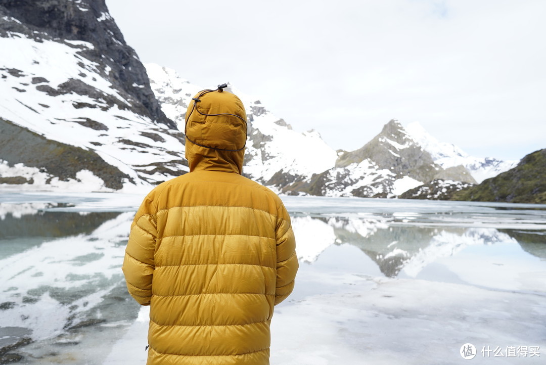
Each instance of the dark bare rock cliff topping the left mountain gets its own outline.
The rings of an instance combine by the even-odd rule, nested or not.
[[[17,21],[8,21],[13,17]],[[105,0],[0,0],[0,37],[22,33],[36,41],[81,40],[94,49],[82,56],[100,65],[132,110],[176,129],[162,112],[143,64],[129,47]]]

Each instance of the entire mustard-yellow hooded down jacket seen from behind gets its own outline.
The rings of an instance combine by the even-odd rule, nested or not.
[[[275,193],[240,175],[239,98],[196,99],[186,113],[190,172],[146,196],[123,262],[129,293],[151,306],[147,363],[269,364],[273,308],[298,270],[290,217]]]

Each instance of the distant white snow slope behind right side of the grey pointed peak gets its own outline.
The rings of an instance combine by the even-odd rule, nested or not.
[[[413,140],[432,155],[435,163],[441,165],[444,169],[458,165],[465,166],[478,183],[487,178],[495,177],[501,172],[508,171],[518,164],[518,161],[502,161],[490,157],[472,157],[452,143],[438,141],[435,137],[427,133],[418,122],[408,124],[406,131],[411,135]]]

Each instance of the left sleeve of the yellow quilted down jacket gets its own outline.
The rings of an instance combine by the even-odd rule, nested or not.
[[[151,201],[145,200],[136,212],[123,260],[123,274],[129,294],[143,306],[149,306],[152,298],[152,276],[155,268],[157,227],[150,213]]]

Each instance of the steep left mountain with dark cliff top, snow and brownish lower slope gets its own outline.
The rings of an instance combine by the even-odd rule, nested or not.
[[[0,183],[119,190],[187,171],[104,0],[0,5]]]

